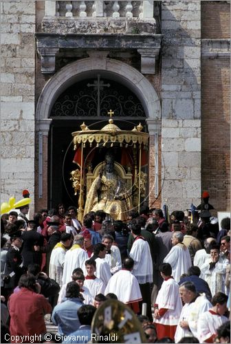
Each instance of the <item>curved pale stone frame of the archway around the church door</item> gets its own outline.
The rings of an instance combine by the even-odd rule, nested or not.
[[[90,57],[84,58],[74,63],[63,67],[57,72],[49,81],[47,81],[45,87],[39,96],[39,100],[36,106],[36,131],[39,132],[40,146],[43,147],[43,151],[39,151],[39,166],[43,166],[43,171],[39,171],[36,176],[36,184],[38,194],[36,195],[36,204],[45,206],[47,204],[47,145],[48,145],[48,133],[50,130],[50,112],[55,100],[60,96],[67,87],[76,83],[92,72],[99,71],[110,76],[114,80],[120,81],[131,91],[136,94],[140,99],[142,106],[146,113],[146,122],[148,125],[148,131],[150,133],[150,171],[151,184],[155,184],[155,195],[158,193],[157,175],[158,169],[158,134],[159,134],[159,123],[161,118],[161,108],[159,98],[153,85],[149,83],[146,77],[137,71],[137,69],[126,65],[120,61],[113,60],[111,58]],[[155,161],[154,161],[155,160]],[[155,182],[156,181],[156,182]],[[154,196],[154,193],[153,193]],[[149,197],[149,202],[151,202]]]

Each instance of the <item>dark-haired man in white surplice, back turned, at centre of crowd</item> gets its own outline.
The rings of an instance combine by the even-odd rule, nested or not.
[[[104,294],[107,295],[109,292],[112,292],[118,297],[119,301],[126,303],[133,312],[138,313],[140,311],[139,302],[142,301],[142,294],[136,277],[131,273],[133,266],[134,261],[132,258],[124,259],[122,270],[116,272],[109,279]]]

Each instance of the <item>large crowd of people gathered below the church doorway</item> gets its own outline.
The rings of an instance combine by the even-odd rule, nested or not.
[[[219,228],[209,206],[170,219],[143,206],[124,222],[100,210],[80,222],[63,204],[2,215],[1,343],[45,343],[45,314],[60,335],[49,343],[87,343],[108,299],[137,314],[146,343],[230,343],[230,218]]]

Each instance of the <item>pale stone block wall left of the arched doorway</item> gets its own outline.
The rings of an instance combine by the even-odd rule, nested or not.
[[[1,1],[1,200],[23,189],[34,213],[35,1]]]

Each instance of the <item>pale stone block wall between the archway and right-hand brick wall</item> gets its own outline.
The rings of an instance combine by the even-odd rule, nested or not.
[[[201,195],[201,5],[162,1],[162,202],[185,210]]]

